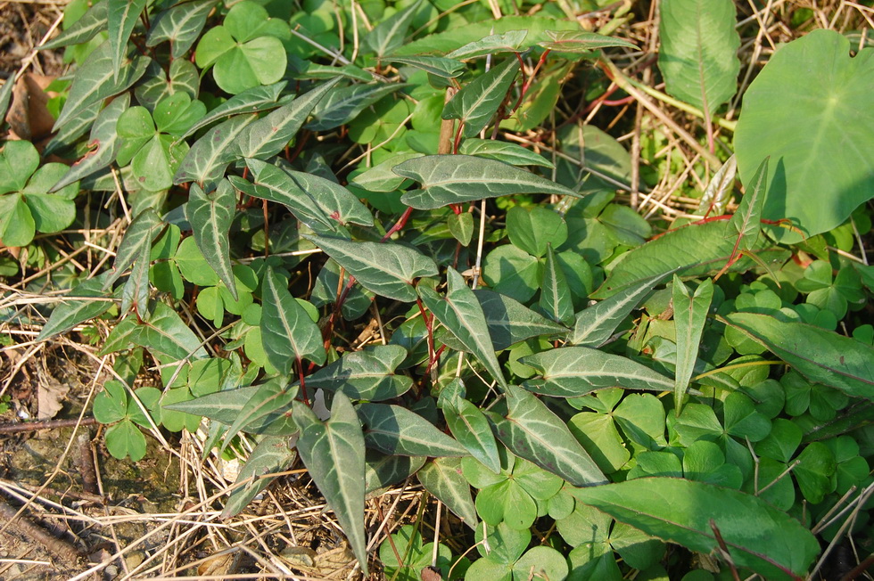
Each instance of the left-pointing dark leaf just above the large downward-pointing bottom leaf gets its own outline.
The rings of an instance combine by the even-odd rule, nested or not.
[[[307,378],[308,389],[342,391],[352,399],[381,401],[400,397],[413,386],[395,368],[407,357],[400,345],[376,345],[346,353]]]

